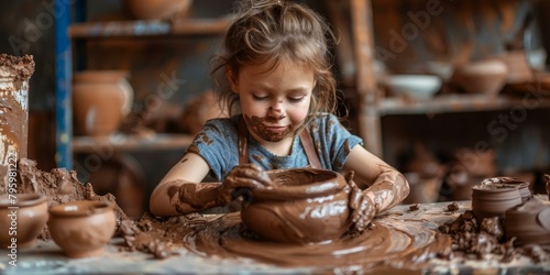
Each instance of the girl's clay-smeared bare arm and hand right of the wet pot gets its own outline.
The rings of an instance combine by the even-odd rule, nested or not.
[[[366,151],[363,146],[354,146],[344,165],[345,172],[354,172],[353,180],[361,188],[362,202],[356,219],[366,223],[380,212],[383,212],[399,202],[409,194],[409,184],[405,176],[380,157]]]

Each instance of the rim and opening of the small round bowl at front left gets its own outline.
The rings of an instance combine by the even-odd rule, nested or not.
[[[58,217],[87,217],[112,211],[113,205],[98,200],[76,200],[53,206],[50,215]]]

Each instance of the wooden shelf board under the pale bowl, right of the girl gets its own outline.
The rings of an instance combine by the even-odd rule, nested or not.
[[[519,97],[487,95],[447,95],[428,100],[386,98],[378,105],[378,114],[431,114],[495,111],[522,105]]]

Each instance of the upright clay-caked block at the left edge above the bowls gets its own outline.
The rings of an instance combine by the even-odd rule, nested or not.
[[[31,55],[0,55],[0,191],[26,157],[29,136],[29,79],[34,73]]]

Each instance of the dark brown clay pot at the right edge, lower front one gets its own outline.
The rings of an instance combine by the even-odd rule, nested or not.
[[[505,235],[514,244],[550,244],[550,206],[529,200],[505,212]]]

